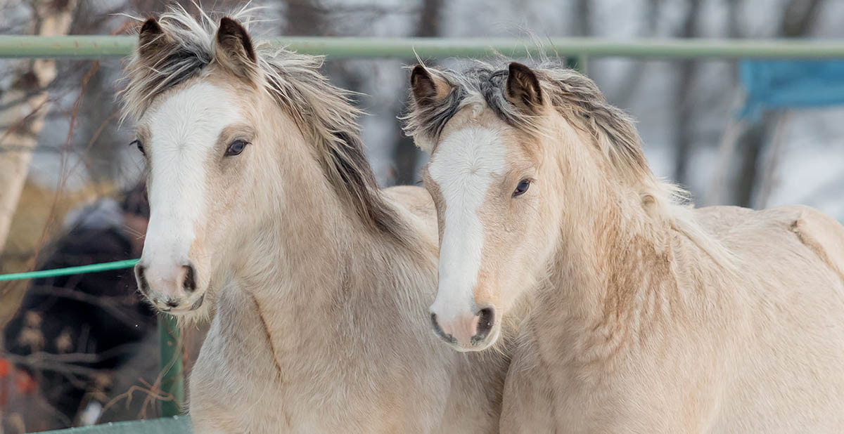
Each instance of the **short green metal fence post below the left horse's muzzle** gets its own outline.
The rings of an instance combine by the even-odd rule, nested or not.
[[[185,380],[181,369],[181,331],[172,315],[161,313],[158,323],[161,391],[173,398],[161,401],[161,415],[181,415],[181,406],[185,404]]]

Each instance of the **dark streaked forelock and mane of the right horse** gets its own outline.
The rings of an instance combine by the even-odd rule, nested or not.
[[[544,134],[535,115],[518,110],[506,99],[508,64],[506,60],[475,61],[464,72],[429,68],[429,72],[451,86],[450,93],[436,104],[412,103],[408,115],[403,117],[405,133],[424,142],[435,142],[457,111],[469,104],[483,103],[509,125],[533,134]],[[650,174],[632,119],[609,104],[591,79],[548,59],[531,68],[550,105],[573,126],[588,131],[619,169],[632,170],[636,176]]]

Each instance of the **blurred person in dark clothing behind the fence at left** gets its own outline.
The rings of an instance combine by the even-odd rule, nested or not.
[[[120,201],[101,199],[71,212],[65,232],[41,255],[48,270],[137,258],[149,220],[144,185]],[[32,281],[4,330],[6,351],[26,356],[17,368],[68,421],[96,418],[111,372],[154,332],[153,311],[138,296],[131,268]],[[89,402],[93,415],[80,421]],[[89,411],[90,413],[90,411]]]

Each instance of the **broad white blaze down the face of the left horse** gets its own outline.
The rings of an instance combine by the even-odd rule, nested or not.
[[[151,287],[175,278],[192,260],[189,249],[206,207],[208,165],[223,158],[217,141],[225,126],[241,121],[235,99],[211,83],[176,91],[144,115],[149,130],[150,218],[142,262]]]

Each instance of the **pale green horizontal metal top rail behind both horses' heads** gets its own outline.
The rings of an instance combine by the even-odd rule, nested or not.
[[[0,35],[0,57],[96,59],[126,56],[135,46],[133,36],[28,36]],[[332,57],[483,57],[494,52],[524,56],[544,51],[549,55],[647,58],[844,58],[844,40],[714,40],[550,38],[537,47],[512,38],[359,38],[279,37],[272,46]]]

